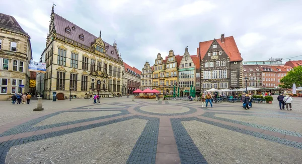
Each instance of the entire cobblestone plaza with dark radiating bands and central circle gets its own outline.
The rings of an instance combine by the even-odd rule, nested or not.
[[[0,163],[302,163],[302,98],[292,111],[131,100],[1,101]]]

